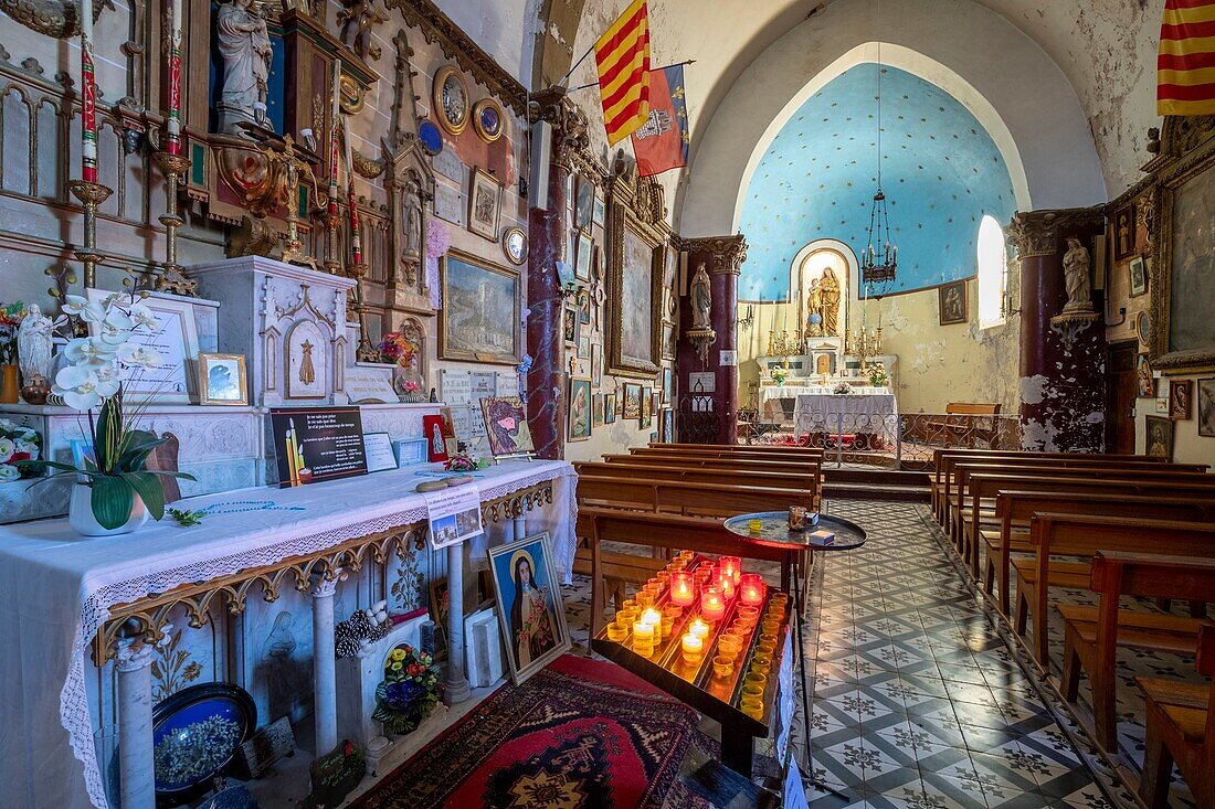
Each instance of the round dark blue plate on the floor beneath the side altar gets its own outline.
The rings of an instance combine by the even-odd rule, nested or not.
[[[249,692],[203,683],[160,701],[152,712],[157,803],[177,805],[211,788],[258,726]]]

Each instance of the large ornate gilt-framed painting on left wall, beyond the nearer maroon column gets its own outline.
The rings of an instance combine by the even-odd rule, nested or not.
[[[608,329],[610,373],[652,379],[662,340],[662,259],[669,237],[662,189],[650,177],[616,177],[608,210]]]

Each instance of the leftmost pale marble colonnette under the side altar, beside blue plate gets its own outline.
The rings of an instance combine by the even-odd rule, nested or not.
[[[152,649],[136,638],[119,638],[118,769],[123,809],[156,809],[152,749]]]

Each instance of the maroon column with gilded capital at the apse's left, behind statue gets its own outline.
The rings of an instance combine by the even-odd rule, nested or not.
[[[739,275],[742,271],[742,262],[747,260],[747,241],[740,233],[683,239],[682,244],[688,253],[689,279],[701,262],[708,270],[710,289],[713,295],[712,322],[717,340],[710,346],[708,361],[701,367],[696,347],[680,336],[677,351],[680,400],[695,392],[689,384],[690,373],[713,372],[716,377],[713,407],[718,414],[718,431],[713,443],[735,443],[739,422],[739,366],[736,357],[733,364],[723,366],[720,352],[738,350]],[[691,301],[684,296],[679,306],[679,334],[686,334],[690,328]],[[680,436],[679,440],[688,439]]]

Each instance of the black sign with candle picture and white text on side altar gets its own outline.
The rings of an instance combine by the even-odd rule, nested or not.
[[[279,486],[367,474],[363,417],[357,407],[273,407],[270,425]]]

